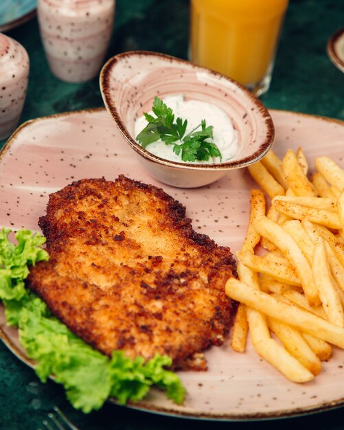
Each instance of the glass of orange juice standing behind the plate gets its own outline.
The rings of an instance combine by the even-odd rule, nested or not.
[[[288,0],[191,0],[190,59],[268,91]]]

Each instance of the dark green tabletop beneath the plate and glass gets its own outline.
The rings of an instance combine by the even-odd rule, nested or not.
[[[115,27],[108,57],[131,49],[149,49],[187,58],[187,0],[117,0]],[[330,62],[325,46],[343,25],[341,0],[291,0],[277,53],[271,89],[262,97],[268,108],[284,109],[344,120],[344,74]],[[27,99],[21,117],[34,117],[102,106],[98,79],[66,84],[51,75],[36,19],[8,32],[30,55]],[[5,142],[0,142],[0,148]],[[0,209],[1,210],[1,209]],[[344,388],[343,388],[344,397]],[[42,384],[0,342],[0,429],[33,430],[58,405],[84,430],[121,429],[343,429],[343,409],[321,414],[262,422],[207,422],[157,416],[106,404],[87,416],[74,410],[63,389]],[[312,426],[312,427],[311,427]]]

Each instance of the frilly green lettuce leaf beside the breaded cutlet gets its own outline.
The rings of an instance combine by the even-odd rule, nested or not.
[[[0,299],[6,321],[18,327],[19,341],[27,356],[36,361],[41,381],[54,375],[73,407],[85,413],[100,409],[108,396],[121,404],[140,400],[152,385],[165,389],[175,403],[183,402],[185,388],[179,376],[165,369],[172,364],[170,357],[157,355],[145,363],[142,357],[129,359],[123,351],[114,351],[108,358],[51,315],[45,302],[28,291],[24,282],[28,266],[49,258],[41,248],[45,238],[20,230],[15,235],[18,245],[13,245],[10,233],[10,229],[0,231]]]

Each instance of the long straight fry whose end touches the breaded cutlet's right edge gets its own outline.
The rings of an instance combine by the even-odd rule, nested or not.
[[[323,339],[333,345],[344,348],[344,328],[326,321],[307,310],[290,306],[277,300],[270,294],[256,290],[236,278],[229,278],[225,286],[226,294],[238,302],[246,304],[264,313],[268,317],[296,327],[301,332]]]

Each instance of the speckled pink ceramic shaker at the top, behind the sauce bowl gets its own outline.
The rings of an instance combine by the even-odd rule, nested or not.
[[[115,0],[38,0],[49,67],[67,82],[97,76],[113,30]]]

